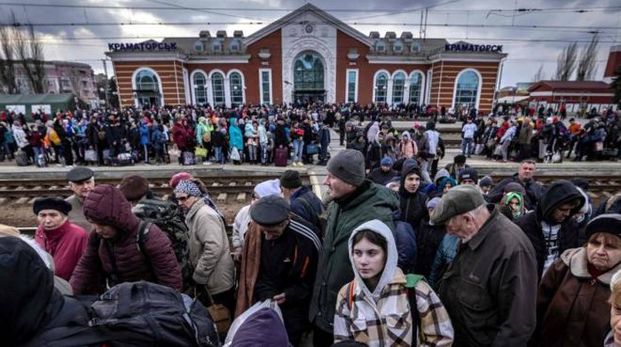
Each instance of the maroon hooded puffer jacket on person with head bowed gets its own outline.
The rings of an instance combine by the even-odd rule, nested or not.
[[[181,268],[175,252],[168,236],[157,225],[151,225],[145,235],[144,249],[138,249],[140,219],[131,213],[130,202],[121,191],[112,185],[95,187],[84,200],[84,217],[101,225],[114,226],[117,234],[112,240],[103,240],[97,233],[90,233],[89,246],[70,281],[75,295],[103,293],[105,286],[99,281],[102,277],[107,278],[111,287],[122,282],[148,280],[182,289]]]

